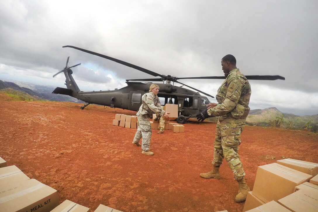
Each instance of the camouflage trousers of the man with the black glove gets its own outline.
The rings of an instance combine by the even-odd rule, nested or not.
[[[213,166],[220,166],[225,158],[234,173],[234,179],[238,181],[245,176],[243,163],[238,154],[244,125],[245,119],[219,117],[214,140]]]

